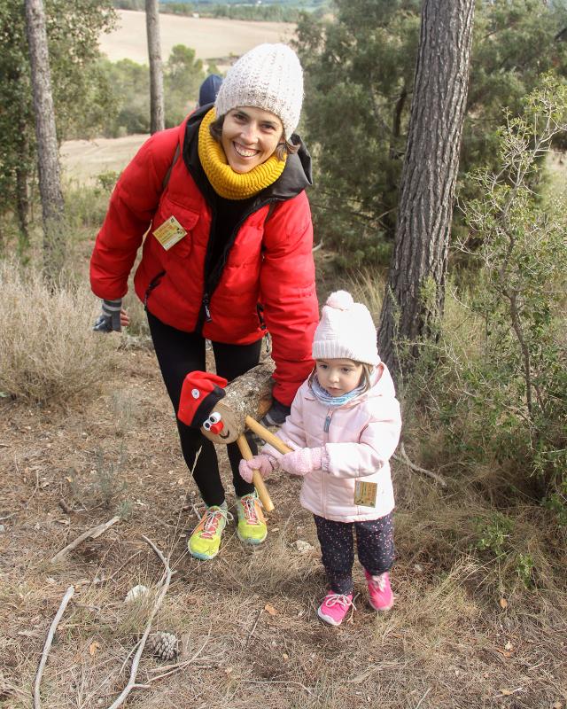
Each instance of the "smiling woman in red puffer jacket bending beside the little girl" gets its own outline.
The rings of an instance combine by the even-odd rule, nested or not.
[[[90,263],[92,290],[103,299],[95,328],[120,330],[120,317],[127,322],[121,299],[144,244],[134,284],[175,412],[186,375],[206,368],[206,339],[217,374],[231,380],[259,362],[268,329],[276,362],[268,416],[276,424],[313,367],[311,160],[294,133],[302,97],[296,54],[261,44],[229,69],[214,105],[151,136],[113,191]],[[177,419],[177,428],[206,503],[189,550],[210,559],[231,518],[214,445],[198,425]],[[236,444],[228,453],[238,536],[259,544],[267,534],[260,502],[238,474]]]

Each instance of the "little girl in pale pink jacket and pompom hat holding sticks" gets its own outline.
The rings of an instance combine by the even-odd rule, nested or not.
[[[392,608],[393,563],[390,465],[400,439],[400,404],[377,353],[369,310],[350,293],[334,292],[322,308],[313,343],[315,370],[277,432],[294,450],[266,445],[241,461],[240,474],[267,477],[284,470],[303,477],[300,502],[313,512],[330,590],[317,611],[338,626],[353,606],[353,526],[358,557],[377,611]],[[353,606],[354,607],[354,606]]]

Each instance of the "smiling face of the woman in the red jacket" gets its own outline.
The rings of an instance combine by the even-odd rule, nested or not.
[[[224,117],[222,150],[237,173],[245,174],[266,162],[283,140],[283,124],[275,113],[245,105]]]

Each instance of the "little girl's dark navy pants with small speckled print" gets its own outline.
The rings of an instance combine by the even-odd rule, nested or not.
[[[394,559],[392,512],[367,522],[335,522],[318,515],[314,518],[322,565],[334,593],[353,592],[353,527],[361,565],[372,576],[390,571]]]

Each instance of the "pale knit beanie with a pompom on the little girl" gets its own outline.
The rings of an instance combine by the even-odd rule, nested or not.
[[[355,303],[346,291],[331,293],[315,330],[312,354],[314,360],[347,359],[379,364],[377,332],[369,309]]]

